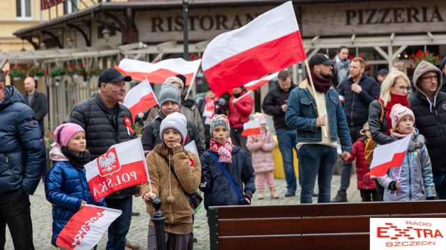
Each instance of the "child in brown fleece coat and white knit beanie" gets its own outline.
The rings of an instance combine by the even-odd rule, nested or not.
[[[192,209],[185,192],[194,193],[200,183],[200,161],[197,155],[184,150],[187,120],[178,112],[169,114],[160,125],[162,143],[157,144],[146,157],[151,185],[143,185],[143,199],[148,214],[153,214],[153,197],[162,201],[161,211],[166,221],[164,231],[170,237],[170,249],[187,249],[192,226]],[[167,240],[167,239],[166,239]],[[156,249],[155,228],[148,223],[147,247]]]

